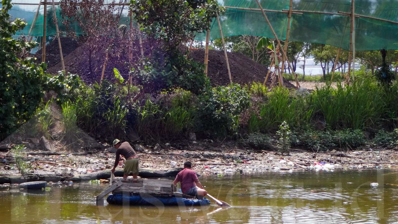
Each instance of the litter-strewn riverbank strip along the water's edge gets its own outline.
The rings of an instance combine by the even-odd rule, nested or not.
[[[290,155],[281,155],[271,148],[254,150],[237,145],[235,141],[212,140],[186,141],[164,145],[135,145],[140,156],[140,176],[174,177],[191,161],[200,175],[228,175],[267,171],[295,171],[314,169],[388,168],[398,166],[398,151],[388,148],[361,148],[355,151],[313,152],[291,149]],[[28,152],[23,161],[26,168],[22,177],[11,152],[0,153],[0,183],[23,181],[89,181],[107,179],[115,161],[113,147],[84,153],[52,151]],[[123,175],[123,161],[119,163],[116,176]]]

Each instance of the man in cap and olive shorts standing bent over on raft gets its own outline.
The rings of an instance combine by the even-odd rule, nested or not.
[[[131,145],[127,141],[122,142],[118,139],[113,140],[113,147],[115,147],[117,150],[115,165],[113,166],[111,172],[115,172],[117,164],[119,164],[120,155],[123,155],[126,158],[123,178],[126,179],[127,176],[129,176],[129,173],[132,172],[134,179],[137,179],[138,155],[135,153],[133,147],[131,147]]]

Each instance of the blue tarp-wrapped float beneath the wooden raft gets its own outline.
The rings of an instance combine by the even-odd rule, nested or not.
[[[115,194],[109,195],[106,198],[109,204],[129,204],[129,205],[152,205],[152,206],[199,206],[208,205],[210,200],[203,198],[203,200],[183,198],[183,197],[167,197],[167,196],[150,196],[150,195],[122,195]]]

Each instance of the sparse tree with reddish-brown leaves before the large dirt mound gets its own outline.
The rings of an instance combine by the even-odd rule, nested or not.
[[[120,8],[115,6],[115,0],[110,3],[105,0],[61,0],[60,6],[68,35],[76,38],[77,32],[86,34],[84,38],[76,39],[84,42],[82,48],[94,82],[99,71],[102,71],[100,61],[105,58],[105,51],[115,44],[113,38],[119,32]],[[81,30],[74,29],[72,25],[75,23]]]

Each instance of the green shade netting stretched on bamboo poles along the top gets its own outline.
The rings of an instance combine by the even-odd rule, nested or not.
[[[39,0],[15,0],[14,2],[38,3]],[[260,0],[265,10],[288,10],[289,0]],[[220,6],[232,6],[241,8],[256,8],[255,0],[219,0]],[[30,25],[37,10],[36,6],[14,5],[10,14],[23,18],[28,25],[18,34],[29,32]],[[351,12],[351,0],[293,0],[293,10],[305,10],[312,12]],[[60,30],[64,31],[59,6],[56,6]],[[355,13],[364,16],[372,16],[385,20],[398,22],[398,0],[355,0]],[[127,14],[124,10],[123,14]],[[288,14],[281,12],[266,12],[273,29],[279,39],[286,38]],[[55,35],[52,6],[47,10],[47,33]],[[121,23],[128,24],[126,16],[121,18]],[[257,35],[273,38],[273,34],[263,15],[259,11],[227,9],[220,15],[220,23],[225,37],[234,35]],[[79,31],[77,34],[83,34]],[[211,23],[210,39],[220,38],[217,20]],[[37,19],[33,36],[43,35],[43,6]],[[341,15],[329,15],[319,13],[292,14],[290,41],[305,41],[323,43],[349,49],[350,17]],[[206,33],[198,33],[197,40],[204,41]],[[398,24],[375,20],[371,18],[355,18],[355,49],[379,50],[398,49]]]

